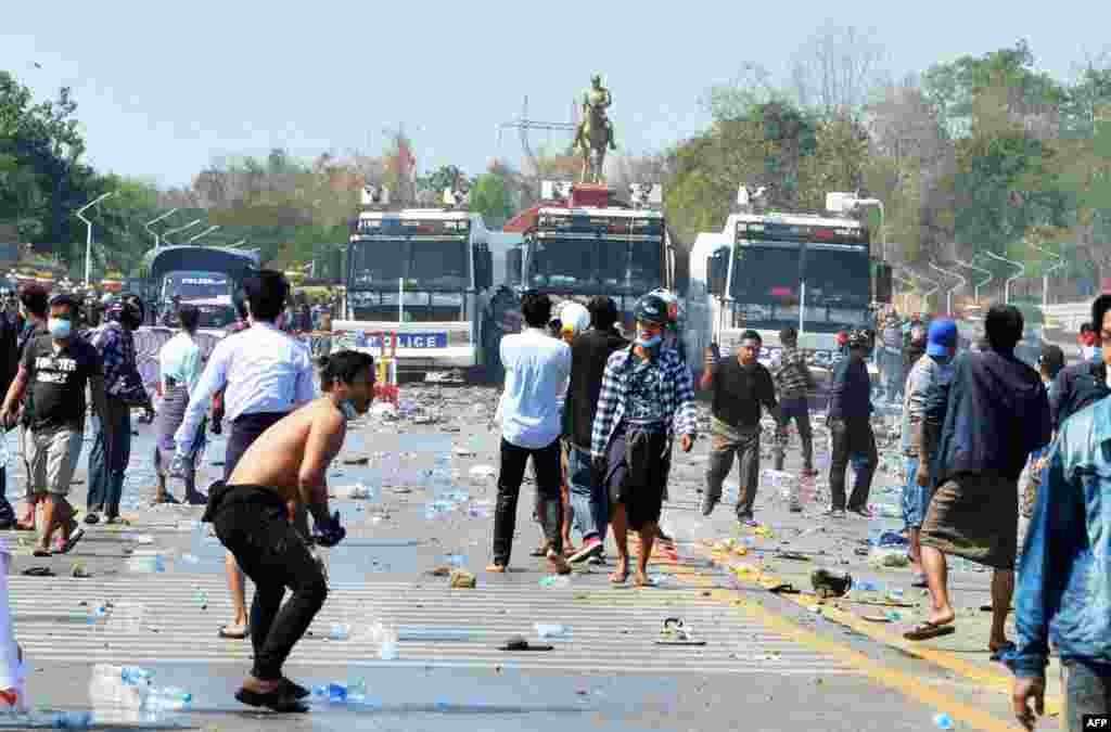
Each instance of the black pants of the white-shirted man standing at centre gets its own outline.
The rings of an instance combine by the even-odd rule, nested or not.
[[[560,505],[560,485],[563,469],[560,465],[559,438],[551,444],[536,450],[519,448],[504,438],[501,440],[501,472],[498,474],[498,507],[493,517],[493,562],[509,566],[517,529],[517,499],[521,494],[524,465],[532,458],[540,493],[540,525],[543,527],[548,548],[563,552],[563,510]]]

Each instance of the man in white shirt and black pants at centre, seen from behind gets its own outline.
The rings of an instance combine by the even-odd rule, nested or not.
[[[527,292],[521,301],[526,330],[501,339],[501,362],[506,368],[502,392],[501,471],[498,475],[498,507],[493,522],[493,562],[488,572],[509,566],[517,524],[517,499],[524,467],[532,458],[542,510],[540,522],[548,540],[548,562],[560,574],[571,566],[563,559],[560,505],[560,397],[571,375],[571,349],[548,334],[551,300]]]

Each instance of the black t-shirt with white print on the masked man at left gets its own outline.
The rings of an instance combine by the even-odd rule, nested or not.
[[[90,377],[103,374],[100,354],[88,341],[71,338],[54,351],[49,333],[39,335],[23,350],[28,400],[23,423],[32,430],[84,427],[84,389]]]

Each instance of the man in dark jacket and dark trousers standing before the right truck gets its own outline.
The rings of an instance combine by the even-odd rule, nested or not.
[[[839,519],[844,518],[845,508],[858,515],[871,517],[868,512],[868,494],[872,489],[872,473],[879,459],[871,422],[872,382],[864,359],[873,344],[870,331],[855,330],[849,333],[845,341],[848,357],[833,371],[829,410],[829,428],[833,437],[830,455],[832,505],[829,514]],[[845,507],[844,471],[850,458],[854,458],[855,481]]]

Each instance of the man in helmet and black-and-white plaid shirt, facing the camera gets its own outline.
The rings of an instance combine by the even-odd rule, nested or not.
[[[602,390],[591,431],[594,480],[607,487],[613,504],[613,539],[618,548],[614,584],[629,578],[629,528],[640,534],[635,583],[649,584],[652,555],[675,433],[683,452],[698,437],[694,384],[690,369],[673,349],[662,348],[668,304],[648,294],[633,312],[637,340],[614,351],[605,362]]]

